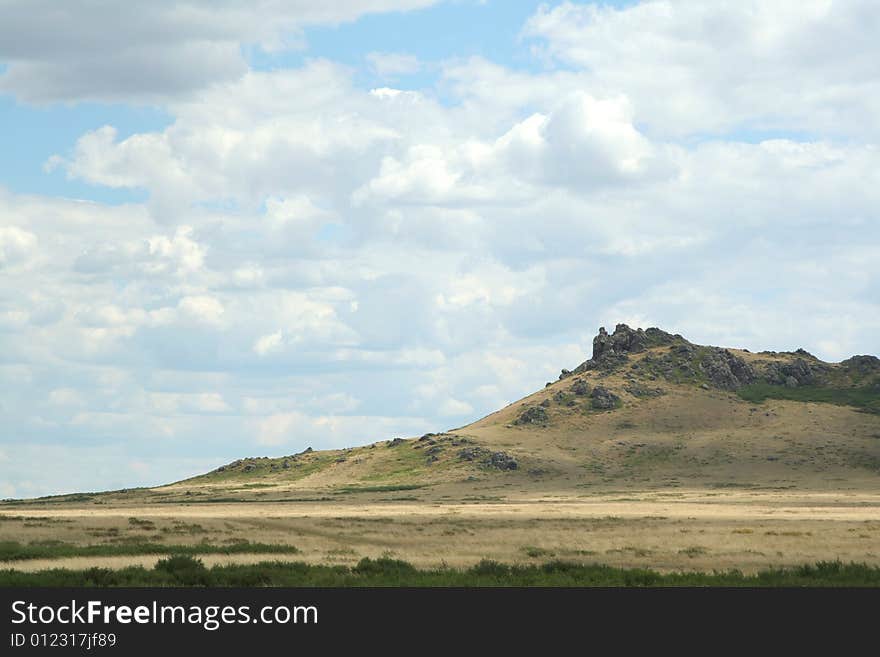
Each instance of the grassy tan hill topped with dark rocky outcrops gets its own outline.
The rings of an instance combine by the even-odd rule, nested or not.
[[[151,491],[154,502],[388,500],[665,487],[875,487],[880,360],[695,345],[600,329],[559,380],[453,432],[243,458]]]

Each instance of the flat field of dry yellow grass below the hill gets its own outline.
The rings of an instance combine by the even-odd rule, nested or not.
[[[135,520],[132,521],[131,519]],[[669,570],[754,572],[842,560],[880,565],[880,494],[787,491],[620,491],[469,502],[275,502],[102,506],[4,511],[4,540],[284,543],[271,555],[353,564],[393,556],[418,566],[562,559]],[[106,556],[13,562],[26,570],[151,565],[158,557]],[[206,564],[265,554],[205,555]]]

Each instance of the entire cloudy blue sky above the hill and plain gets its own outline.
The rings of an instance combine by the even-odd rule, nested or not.
[[[0,1],[0,498],[464,425],[599,326],[880,353],[874,0]]]

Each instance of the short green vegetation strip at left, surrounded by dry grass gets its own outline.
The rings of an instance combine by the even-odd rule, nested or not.
[[[23,559],[60,559],[63,557],[131,557],[143,554],[297,554],[292,545],[275,545],[237,541],[229,545],[194,543],[192,545],[165,545],[162,543],[103,543],[73,545],[60,541],[41,541],[22,545],[17,541],[0,541],[0,561]]]

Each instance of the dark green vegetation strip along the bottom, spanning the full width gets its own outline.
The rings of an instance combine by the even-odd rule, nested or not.
[[[660,574],[651,570],[550,562],[508,566],[483,561],[465,570],[419,570],[393,559],[362,559],[356,566],[266,562],[206,568],[189,555],[161,559],[155,568],[121,570],[0,570],[0,586],[870,586],[880,587],[880,568],[839,561],[757,575],[739,571]]]

